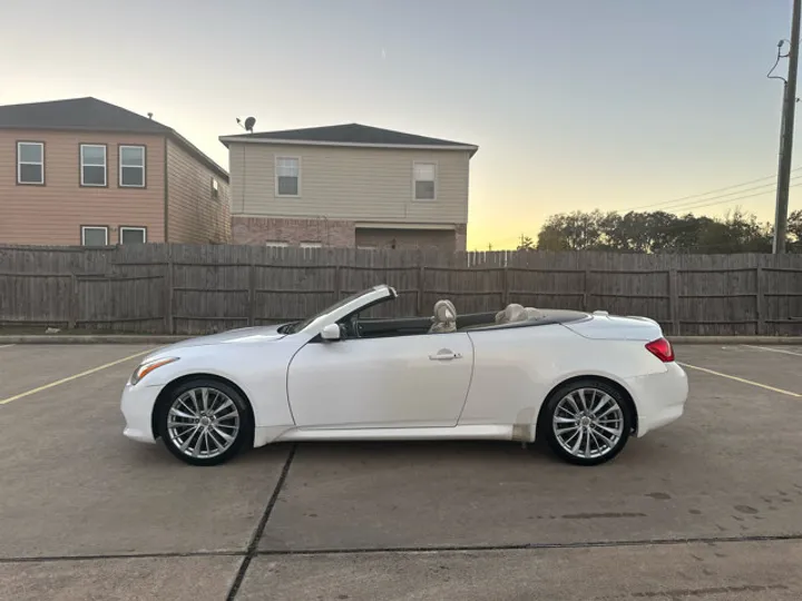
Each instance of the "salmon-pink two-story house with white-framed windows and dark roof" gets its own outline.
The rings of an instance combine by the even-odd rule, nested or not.
[[[0,107],[0,244],[228,243],[228,174],[95,98]]]

